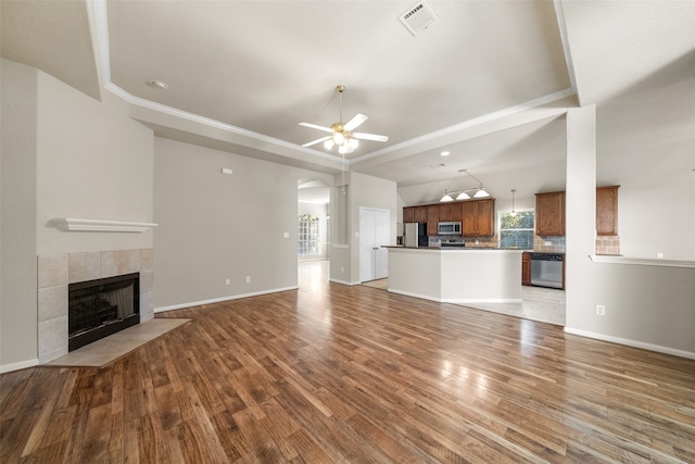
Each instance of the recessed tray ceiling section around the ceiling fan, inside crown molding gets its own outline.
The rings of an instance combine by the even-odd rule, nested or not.
[[[298,145],[325,135],[300,121],[338,122],[338,84],[343,121],[368,115],[359,130],[387,146],[570,87],[552,2],[430,3],[440,20],[413,37],[397,21],[412,1],[109,2],[111,77]],[[383,148],[364,145],[355,156]]]

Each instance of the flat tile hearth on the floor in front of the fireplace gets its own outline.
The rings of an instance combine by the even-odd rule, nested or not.
[[[102,367],[189,321],[187,318],[150,319],[71,351],[45,365]]]

